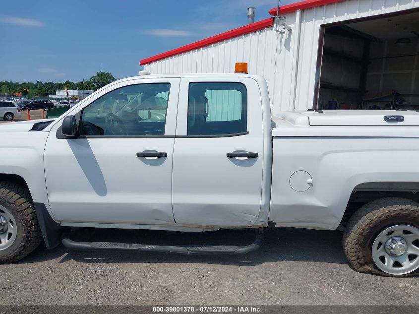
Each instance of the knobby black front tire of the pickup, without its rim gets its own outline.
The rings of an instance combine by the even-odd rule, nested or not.
[[[17,235],[13,244],[0,251],[0,263],[18,261],[41,243],[41,229],[32,203],[27,188],[9,182],[0,182],[0,205],[13,215],[17,225]]]

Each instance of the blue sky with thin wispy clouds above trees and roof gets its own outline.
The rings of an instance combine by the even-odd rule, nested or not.
[[[296,2],[282,0],[281,4]],[[269,17],[276,0],[0,2],[0,81],[133,76],[143,58]]]

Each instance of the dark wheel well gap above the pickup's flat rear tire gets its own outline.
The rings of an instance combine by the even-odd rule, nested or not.
[[[403,197],[419,203],[419,182],[368,182],[356,186],[352,190],[341,225],[346,226],[349,218],[363,204],[383,197]]]

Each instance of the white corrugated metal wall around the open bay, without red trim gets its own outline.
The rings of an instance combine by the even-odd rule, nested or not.
[[[419,0],[348,0],[290,12],[282,17],[292,26],[291,33],[278,34],[270,27],[145,68],[153,74],[232,73],[236,62],[246,62],[249,73],[268,82],[273,115],[305,110],[313,105],[320,25],[418,7]]]

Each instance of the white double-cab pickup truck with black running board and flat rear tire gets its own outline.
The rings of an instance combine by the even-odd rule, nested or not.
[[[55,120],[0,126],[0,261],[79,250],[240,254],[263,230],[343,231],[358,271],[419,268],[419,113],[282,112],[247,74],[142,75]],[[76,242],[68,228],[256,230],[248,246]],[[280,245],[280,244],[279,244]]]

